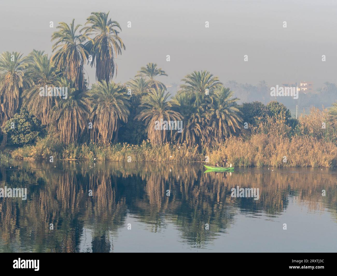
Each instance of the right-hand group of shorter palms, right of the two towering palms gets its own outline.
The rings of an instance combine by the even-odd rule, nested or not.
[[[140,72],[142,71],[154,71],[153,64],[148,64]],[[136,93],[146,91],[142,97],[143,110],[136,118],[145,120],[152,144],[162,145],[170,139],[177,143],[186,142],[189,146],[211,144],[223,141],[241,128],[238,98],[233,98],[233,92],[223,87],[218,78],[213,77],[210,72],[194,71],[186,75],[182,79],[184,84],[171,100],[168,100],[170,94],[165,93],[165,86],[153,78],[154,75],[166,75],[164,71],[159,69],[156,74],[145,75],[147,79],[142,79],[143,76],[135,78],[128,85]],[[149,83],[144,89],[146,80]],[[155,122],[160,119],[182,120],[182,132],[155,130]]]

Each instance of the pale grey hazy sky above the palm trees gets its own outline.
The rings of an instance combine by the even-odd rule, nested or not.
[[[166,85],[180,83],[193,70],[209,70],[224,83],[265,80],[273,86],[297,76],[317,88],[337,82],[336,2],[1,0],[0,52],[26,55],[36,49],[50,54],[58,22],[69,24],[75,18],[75,24],[84,24],[90,12],[110,11],[126,45],[118,56],[116,82],[128,81],[141,66],[154,62],[168,74],[161,77]],[[95,82],[94,69],[86,69],[90,83]]]

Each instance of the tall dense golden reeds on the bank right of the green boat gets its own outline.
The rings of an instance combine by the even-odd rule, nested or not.
[[[224,156],[235,166],[331,167],[337,163],[337,147],[313,137],[288,137],[259,133],[247,141],[232,138],[207,151],[211,163]],[[286,157],[286,162],[284,156]]]

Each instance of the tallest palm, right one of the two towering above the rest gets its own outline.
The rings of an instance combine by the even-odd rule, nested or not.
[[[117,21],[108,20],[108,16],[109,12],[92,12],[85,24],[91,26],[82,29],[88,36],[95,35],[85,46],[92,55],[91,67],[96,62],[96,80],[104,80],[106,83],[113,78],[115,69],[117,74],[115,58],[122,54],[122,49],[125,50],[125,45],[118,36],[122,29]]]

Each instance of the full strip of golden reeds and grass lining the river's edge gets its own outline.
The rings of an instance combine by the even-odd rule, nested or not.
[[[332,142],[314,137],[293,136],[291,139],[259,133],[244,140],[232,137],[226,142],[200,149],[186,144],[165,144],[153,147],[143,141],[141,145],[115,144],[101,146],[95,144],[62,145],[52,137],[23,146],[8,155],[14,159],[49,160],[109,160],[130,162],[204,162],[213,164],[227,157],[228,162],[237,167],[336,167],[337,146]]]

